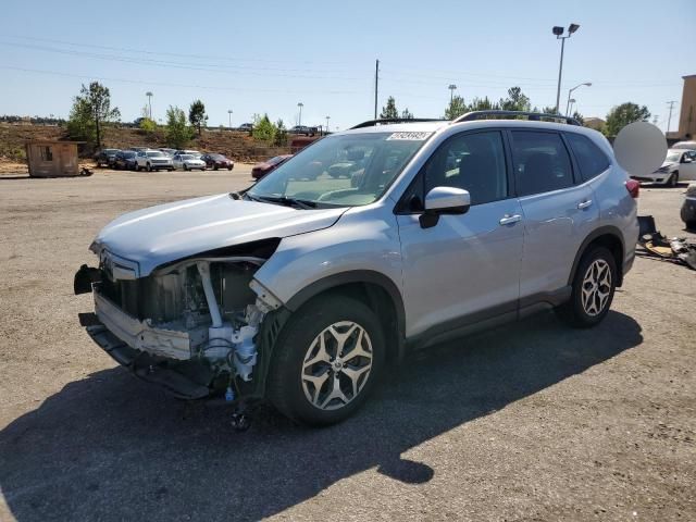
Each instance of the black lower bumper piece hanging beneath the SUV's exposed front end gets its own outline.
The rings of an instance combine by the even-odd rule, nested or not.
[[[102,350],[136,377],[162,386],[181,399],[202,399],[210,395],[209,386],[203,383],[210,383],[212,373],[204,365],[182,363],[176,369],[170,368],[169,361],[130,348],[109,332],[95,314],[84,314],[80,323],[87,324],[85,330]]]

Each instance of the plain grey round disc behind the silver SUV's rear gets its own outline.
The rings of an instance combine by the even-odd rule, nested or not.
[[[621,167],[632,176],[647,176],[667,158],[667,139],[648,122],[634,122],[623,127],[613,140],[613,153]]]

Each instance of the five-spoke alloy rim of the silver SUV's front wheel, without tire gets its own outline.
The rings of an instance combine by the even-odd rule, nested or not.
[[[307,400],[320,410],[337,410],[363,389],[372,370],[372,341],[352,321],[324,328],[310,344],[301,381]]]

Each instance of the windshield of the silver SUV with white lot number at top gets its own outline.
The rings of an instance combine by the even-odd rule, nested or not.
[[[312,207],[356,207],[376,201],[432,133],[328,136],[261,178],[251,198],[291,199]],[[287,198],[287,199],[285,199]]]

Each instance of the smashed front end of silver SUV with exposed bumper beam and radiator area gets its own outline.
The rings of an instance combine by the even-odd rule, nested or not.
[[[260,398],[283,312],[253,274],[277,243],[207,252],[146,277],[102,249],[99,269],[75,274],[75,294],[95,300],[80,323],[120,364],[179,398]]]

